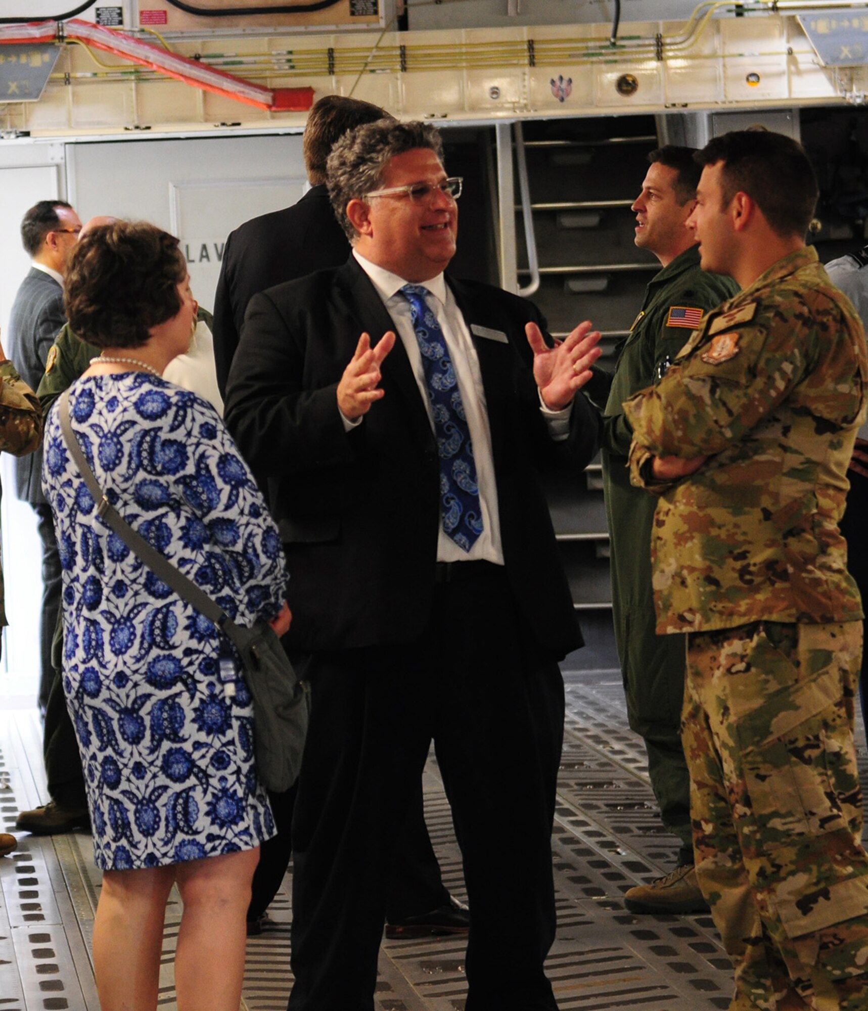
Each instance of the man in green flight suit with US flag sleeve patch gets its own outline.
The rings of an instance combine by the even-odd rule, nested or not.
[[[603,487],[611,547],[615,638],[632,730],[645,742],[648,775],[664,825],[681,840],[677,865],[664,878],[627,892],[633,913],[708,910],[693,869],[690,777],[681,744],[684,640],[660,636],[652,593],[650,539],[655,500],[630,485],[627,456],[632,430],[622,403],[650,386],[687,343],[702,315],[729,298],[737,285],[699,266],[693,210],[700,167],[693,148],[668,146],[648,155],[650,167],[631,210],[635,244],[660,260],[644,302],[619,349],[614,373],[595,368],[586,387],[602,409]]]

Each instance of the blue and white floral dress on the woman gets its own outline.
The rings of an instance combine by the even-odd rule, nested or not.
[[[143,372],[79,379],[73,430],[126,522],[241,625],[285,588],[277,529],[213,407]],[[96,516],[47,424],[42,474],[63,566],[64,690],[103,869],[250,849],[274,835],[253,710],[225,636]],[[222,663],[223,672],[222,672]]]

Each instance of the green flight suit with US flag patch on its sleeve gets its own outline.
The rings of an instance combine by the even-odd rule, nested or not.
[[[690,777],[680,731],[685,645],[683,637],[661,636],[655,630],[650,541],[657,501],[630,484],[627,457],[632,429],[622,404],[650,386],[662,363],[674,359],[687,344],[696,310],[704,314],[737,290],[730,278],[701,270],[697,246],[686,250],[648,284],[641,311],[618,351],[614,373],[595,370],[588,391],[603,410],[612,609],[627,718],[645,742],[648,775],[661,816],[681,839],[680,861],[686,863],[693,862],[693,845]]]

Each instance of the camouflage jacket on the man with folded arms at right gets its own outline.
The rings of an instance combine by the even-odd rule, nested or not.
[[[862,324],[812,248],[710,312],[628,400],[630,476],[659,493],[658,632],[862,618],[838,529],[865,417]],[[708,459],[656,483],[652,456]]]

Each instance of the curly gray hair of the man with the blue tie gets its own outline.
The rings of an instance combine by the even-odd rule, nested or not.
[[[443,160],[439,130],[419,120],[402,123],[396,119],[377,119],[345,133],[332,148],[326,163],[329,199],[351,243],[358,239],[358,233],[347,217],[347,204],[381,189],[389,159],[417,148],[430,148]]]

